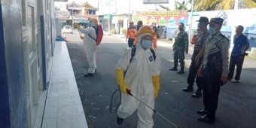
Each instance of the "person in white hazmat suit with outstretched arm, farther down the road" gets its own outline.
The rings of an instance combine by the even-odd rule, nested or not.
[[[88,62],[87,74],[85,77],[92,77],[96,71],[96,41],[93,38],[96,38],[96,26],[98,26],[98,20],[95,18],[90,19],[90,23],[86,29],[80,28],[78,24],[75,24],[74,27],[78,28],[78,31],[84,33],[84,52],[85,57]]]

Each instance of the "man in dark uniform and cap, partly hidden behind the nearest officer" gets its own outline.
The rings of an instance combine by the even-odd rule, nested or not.
[[[189,67],[189,73],[187,76],[187,88],[184,88],[184,92],[190,92],[194,90],[194,79],[197,76],[197,71],[200,68],[202,62],[203,62],[203,53],[205,50],[205,44],[206,39],[209,37],[209,32],[207,29],[207,25],[209,23],[209,20],[207,17],[200,17],[199,20],[197,20],[199,23],[197,24],[198,29],[200,29],[200,32],[197,34],[196,43],[194,45],[194,52],[191,57],[191,63]],[[197,77],[197,91],[192,95],[194,98],[198,98],[202,96],[202,86],[200,85],[200,78]]]

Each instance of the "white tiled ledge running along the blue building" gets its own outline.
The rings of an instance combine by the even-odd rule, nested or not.
[[[87,128],[66,42],[57,41],[43,128]]]

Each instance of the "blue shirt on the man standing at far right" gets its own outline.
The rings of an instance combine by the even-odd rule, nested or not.
[[[240,56],[245,53],[245,50],[248,50],[249,42],[248,38],[245,35],[239,35],[238,37],[235,35],[233,38],[233,50],[231,52],[231,56]]]

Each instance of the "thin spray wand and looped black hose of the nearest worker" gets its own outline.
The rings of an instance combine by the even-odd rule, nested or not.
[[[116,93],[118,90],[119,90],[119,89],[115,90],[114,93]],[[120,100],[119,100],[119,103],[118,103],[118,105],[117,105],[117,108],[114,109],[114,111],[111,110],[111,109],[112,109],[112,98],[113,98],[113,96],[114,96],[114,93],[113,93],[112,96],[111,96],[111,105],[110,105],[110,109],[109,109],[109,111],[110,111],[111,113],[114,113],[114,111],[116,111],[117,108],[120,106]],[[120,93],[120,90],[119,90],[119,93]],[[175,123],[173,123],[172,121],[168,120],[166,117],[163,116],[163,114],[160,114],[158,111],[156,111],[155,109],[151,108],[149,105],[145,104],[145,102],[142,102],[141,99],[139,99],[138,97],[134,96],[133,93],[131,93],[131,90],[126,89],[126,93],[127,93],[128,95],[130,95],[130,96],[133,96],[133,98],[135,98],[136,100],[138,100],[140,103],[142,103],[143,105],[145,105],[147,108],[150,108],[152,111],[154,111],[154,113],[158,114],[160,117],[162,117],[162,118],[163,118],[164,120],[166,120],[168,123],[170,123],[172,126],[174,126],[175,128],[178,128],[178,126],[177,126]],[[121,99],[121,93],[120,93],[120,99]]]

